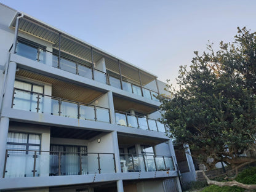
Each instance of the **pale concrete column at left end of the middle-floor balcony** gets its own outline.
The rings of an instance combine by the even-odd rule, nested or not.
[[[9,63],[7,79],[6,79],[6,89],[4,92],[4,97],[2,98],[2,109],[12,107],[12,96],[14,93],[14,81],[16,73],[17,64],[15,62]]]

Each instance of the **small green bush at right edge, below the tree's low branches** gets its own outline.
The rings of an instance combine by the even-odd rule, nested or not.
[[[244,184],[256,184],[256,167],[244,169],[238,174],[236,181]]]

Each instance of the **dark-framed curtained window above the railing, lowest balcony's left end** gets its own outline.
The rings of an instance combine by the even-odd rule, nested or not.
[[[7,150],[26,150],[26,154],[40,151],[41,135],[9,132],[7,138]],[[28,151],[32,150],[32,151]],[[23,153],[23,152],[22,152]]]

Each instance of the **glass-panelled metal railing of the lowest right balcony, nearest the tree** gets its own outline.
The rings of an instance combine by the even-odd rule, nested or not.
[[[155,172],[175,170],[171,156],[120,154],[122,172]]]

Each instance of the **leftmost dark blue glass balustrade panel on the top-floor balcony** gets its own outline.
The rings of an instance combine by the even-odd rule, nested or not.
[[[17,43],[16,54],[34,61],[38,60],[38,49],[23,44],[21,42]]]

